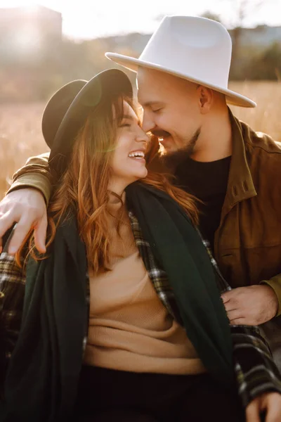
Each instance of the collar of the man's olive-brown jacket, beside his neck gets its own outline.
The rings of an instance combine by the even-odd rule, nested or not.
[[[245,142],[251,141],[249,127],[233,116],[229,110],[233,139],[233,154],[228,175],[228,189],[223,212],[228,212],[236,203],[256,196],[256,189],[246,158]]]

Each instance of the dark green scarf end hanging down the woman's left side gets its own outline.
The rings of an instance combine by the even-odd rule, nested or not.
[[[10,319],[11,327],[13,320],[11,309],[5,309],[5,302],[11,301],[6,283],[10,289],[15,280],[25,284],[24,289],[19,286],[24,303],[17,309],[21,312],[18,338],[13,350],[6,350],[12,353],[1,421],[53,422],[72,416],[88,328],[86,250],[74,218],[58,227],[47,255],[39,262],[30,258],[26,276],[20,269],[17,276],[16,264],[6,259],[6,276],[1,274],[4,325]],[[11,347],[11,337],[4,345]]]

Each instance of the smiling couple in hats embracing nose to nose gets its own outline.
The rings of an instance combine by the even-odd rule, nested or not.
[[[254,106],[230,53],[221,24],[166,17],[140,59],[107,54],[142,126],[119,70],[48,102],[51,153],[0,209],[3,420],[280,420],[256,327],[280,313],[280,150],[230,113]]]

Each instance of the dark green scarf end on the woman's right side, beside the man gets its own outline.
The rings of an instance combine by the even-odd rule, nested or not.
[[[229,322],[197,230],[166,193],[139,182],[126,192],[127,204],[167,274],[188,338],[207,371],[230,385],[234,376]]]

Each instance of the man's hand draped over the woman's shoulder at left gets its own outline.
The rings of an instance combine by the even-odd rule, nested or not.
[[[8,253],[14,255],[34,229],[34,241],[39,252],[46,252],[47,214],[43,195],[35,188],[22,188],[8,193],[0,202],[0,252],[2,237],[13,223],[18,223]]]

